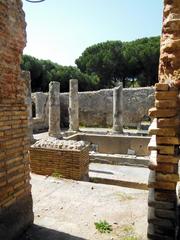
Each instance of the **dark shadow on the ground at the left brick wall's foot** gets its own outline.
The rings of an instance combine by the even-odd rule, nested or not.
[[[64,232],[58,232],[56,230],[34,224],[23,234],[20,240],[86,240],[86,239],[72,236]]]

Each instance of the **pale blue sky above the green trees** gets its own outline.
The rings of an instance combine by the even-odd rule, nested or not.
[[[89,46],[161,34],[163,0],[23,0],[27,22],[24,53],[61,65]]]

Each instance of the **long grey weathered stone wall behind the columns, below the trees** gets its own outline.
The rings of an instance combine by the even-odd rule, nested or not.
[[[154,105],[154,88],[123,89],[124,126],[137,127],[148,115],[148,109]],[[48,93],[33,93],[32,101],[36,105],[36,118],[33,119],[34,130],[48,128]],[[60,94],[61,125],[69,125],[69,94]],[[40,109],[40,113],[39,113]],[[113,89],[79,92],[80,125],[112,126]]]

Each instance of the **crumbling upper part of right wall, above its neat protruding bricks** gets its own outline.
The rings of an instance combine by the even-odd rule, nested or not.
[[[164,0],[159,81],[180,87],[180,1]]]

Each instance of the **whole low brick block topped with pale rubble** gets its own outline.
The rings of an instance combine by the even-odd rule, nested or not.
[[[41,139],[30,148],[34,173],[83,180],[88,176],[89,144],[84,141]]]

